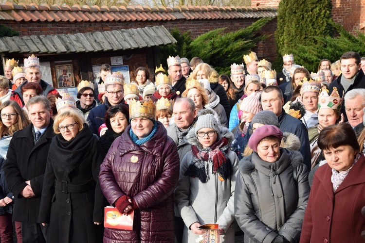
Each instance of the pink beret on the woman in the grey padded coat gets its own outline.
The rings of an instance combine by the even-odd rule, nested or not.
[[[257,152],[257,145],[262,139],[269,136],[277,137],[281,141],[281,139],[283,138],[283,133],[275,126],[264,125],[256,129],[255,132],[252,133],[250,140],[248,141],[248,146],[252,148],[255,152]]]

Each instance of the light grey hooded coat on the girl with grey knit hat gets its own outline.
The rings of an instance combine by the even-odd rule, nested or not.
[[[227,128],[221,128],[217,140],[225,137],[228,144],[232,142],[233,134]],[[196,136],[195,130],[190,130],[186,136],[189,145],[201,146]],[[198,235],[188,229],[193,223],[202,224],[216,223],[223,228],[221,242],[235,242],[234,228],[231,224],[234,220],[234,194],[235,183],[238,172],[238,158],[236,154],[228,150],[227,157],[232,163],[233,171],[229,179],[221,181],[218,173],[212,173],[212,165],[207,165],[210,179],[202,183],[199,178],[184,176],[184,173],[193,159],[193,154],[189,151],[180,166],[180,178],[175,191],[175,203],[183,218],[185,227],[183,233],[183,243],[195,242]]]

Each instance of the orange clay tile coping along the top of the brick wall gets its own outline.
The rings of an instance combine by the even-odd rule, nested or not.
[[[276,7],[217,6],[80,6],[30,5],[6,2],[0,4],[0,20],[15,21],[166,21],[176,19],[235,19],[277,16]]]

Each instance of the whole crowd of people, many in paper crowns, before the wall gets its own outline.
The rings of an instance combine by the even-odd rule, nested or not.
[[[75,100],[7,59],[0,242],[364,242],[365,58],[243,60],[170,56],[130,83],[105,64]],[[104,227],[108,206],[131,228]]]

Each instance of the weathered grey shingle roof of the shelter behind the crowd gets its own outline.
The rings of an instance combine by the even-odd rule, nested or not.
[[[174,44],[164,26],[76,34],[0,38],[0,53],[77,53],[127,50]]]

